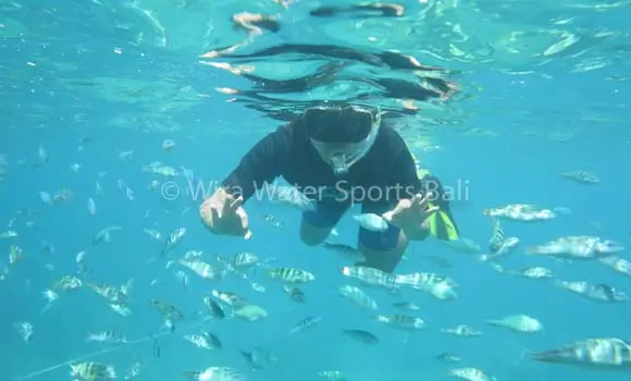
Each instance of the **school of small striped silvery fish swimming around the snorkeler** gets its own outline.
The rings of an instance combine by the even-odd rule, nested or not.
[[[168,139],[164,140],[162,149],[169,151],[176,149],[176,146],[174,140]],[[79,150],[83,150],[82,147],[79,146]],[[119,153],[120,160],[123,161],[131,161],[133,156],[133,151]],[[7,156],[0,155],[0,173],[9,183],[14,167],[25,165],[30,162],[35,170],[42,170],[49,163],[48,153],[42,146],[39,147],[33,160],[21,159],[12,161]],[[79,172],[83,169],[81,164],[74,163],[70,165],[70,170]],[[148,189],[145,189],[146,192],[159,189],[164,177],[190,179],[194,176],[191,171],[185,168],[175,169],[162,162],[144,165],[141,171],[156,175],[156,179],[149,183]],[[561,177],[590,185],[599,182],[595,175],[584,171],[568,171],[562,173]],[[136,192],[129,184],[123,180],[112,180],[106,173],[96,174],[94,192],[87,196],[82,195],[82,197],[85,197],[84,200],[78,199],[78,195],[75,195],[70,188],[54,192],[25,189],[25,192],[38,194],[41,205],[27,210],[16,210],[7,228],[0,231],[1,247],[7,250],[5,262],[0,263],[0,285],[16,287],[21,283],[30,282],[28,278],[16,276],[18,273],[24,273],[16,270],[20,266],[34,266],[34,263],[42,262],[42,266],[51,274],[50,286],[41,291],[41,314],[47,314],[62,300],[71,299],[76,297],[79,292],[84,292],[92,293],[94,297],[100,298],[100,303],[111,309],[113,314],[117,314],[125,319],[134,319],[136,315],[148,314],[132,310],[132,299],[145,298],[147,302],[144,308],[162,320],[163,327],[156,327],[156,334],[133,340],[116,330],[86,332],[86,342],[109,345],[107,349],[100,353],[114,351],[122,346],[150,343],[150,356],[160,357],[162,356],[161,342],[174,335],[181,336],[182,340],[190,343],[191,346],[199,348],[199,351],[225,351],[224,339],[218,332],[223,320],[239,319],[244,323],[253,324],[260,320],[274,319],[275,312],[269,312],[262,306],[262,303],[248,299],[232,290],[226,290],[224,284],[227,279],[243,281],[257,293],[277,294],[279,298],[286,298],[283,303],[295,303],[297,305],[308,305],[309,293],[318,293],[318,287],[330,286],[326,284],[326,280],[331,274],[318,274],[310,269],[296,268],[289,260],[280,263],[276,258],[262,258],[253,253],[218,255],[209,254],[205,250],[184,251],[181,249],[181,243],[187,238],[186,226],[180,226],[170,232],[160,232],[154,228],[147,228],[144,230],[147,239],[157,242],[156,253],[149,258],[150,262],[163,262],[163,267],[168,272],[188,290],[191,288],[189,287],[190,276],[198,276],[208,282],[206,283],[208,285],[206,291],[194,296],[198,299],[200,308],[194,311],[185,311],[177,306],[177,300],[136,296],[134,290],[137,284],[134,279],[129,279],[123,284],[107,284],[98,279],[97,272],[94,271],[90,263],[92,261],[91,251],[98,245],[107,245],[114,242],[116,235],[122,233],[121,231],[124,229],[122,224],[107,225],[94,234],[91,242],[73,255],[74,270],[72,272],[63,273],[57,270],[55,262],[60,260],[60,255],[51,242],[41,244],[42,254],[26,253],[26,250],[21,248],[21,245],[24,244],[21,241],[23,233],[27,230],[37,229],[37,220],[44,213],[44,208],[60,207],[71,202],[85,202],[85,218],[98,217],[99,205],[107,205],[103,192],[107,183],[114,184],[119,192],[128,200],[136,198]],[[280,188],[277,196],[275,200],[280,204],[299,209],[310,207],[309,200],[305,199],[292,187]],[[270,212],[263,213],[259,218],[271,226],[282,229],[284,223],[273,216],[275,207],[276,205],[274,204],[270,205]],[[572,261],[592,261],[604,265],[620,274],[631,276],[631,262],[620,256],[624,250],[622,244],[598,236],[561,236],[549,242],[534,243],[527,246],[523,253],[520,254],[521,241],[515,236],[505,236],[504,233],[504,221],[545,223],[547,220],[569,213],[570,211],[566,208],[546,208],[525,204],[488,208],[482,211],[482,214],[488,218],[490,239],[485,249],[482,249],[473,239],[468,238],[460,238],[458,242],[447,243],[447,245],[454,250],[474,255],[480,262],[491,266],[502,276],[550,280],[550,290],[570,292],[596,303],[627,302],[629,299],[628,294],[613,285],[590,283],[590,281],[583,280],[560,280],[546,267],[546,263],[549,263],[546,260],[549,259],[568,266],[571,266]],[[359,225],[372,231],[387,229],[387,221],[381,216],[357,214],[352,219]],[[197,219],[193,218],[193,214],[188,220],[190,224],[199,223]],[[71,239],[73,238],[76,237],[71,237]],[[211,245],[212,236],[208,237],[208,242]],[[71,246],[81,246],[81,239],[77,238]],[[331,273],[337,271],[346,280],[346,284],[337,286],[339,296],[346,300],[345,303],[348,306],[363,311],[372,319],[372,322],[363,324],[363,328],[348,327],[339,332],[342,335],[358,343],[371,346],[380,343],[379,336],[371,332],[371,324],[375,324],[374,327],[376,324],[387,324],[393,329],[403,330],[406,333],[406,340],[418,337],[419,333],[416,331],[423,330],[437,330],[445,334],[462,337],[483,335],[483,327],[488,330],[497,328],[521,334],[542,334],[544,331],[544,322],[529,315],[528,311],[508,316],[493,316],[484,321],[470,321],[467,324],[462,323],[456,327],[430,324],[420,316],[424,308],[419,307],[417,304],[419,297],[417,297],[418,294],[416,292],[424,293],[431,298],[438,300],[457,303],[457,288],[460,285],[454,279],[445,274],[420,271],[424,266],[420,259],[413,258],[412,255],[409,255],[408,257],[410,258],[407,258],[407,260],[418,262],[419,271],[411,273],[391,274],[372,268],[354,266],[352,263],[361,258],[361,254],[355,247],[339,243],[337,232],[333,232],[323,248],[338,253],[347,261],[346,266],[331,269]],[[541,265],[523,269],[508,269],[506,259],[516,255],[541,258]],[[424,255],[423,258],[431,260],[432,263],[443,269],[451,267],[450,260],[444,256]],[[102,261],[102,258],[99,261]],[[481,266],[485,266],[482,263]],[[62,266],[60,267],[63,268]],[[138,269],[138,272],[141,271],[144,269]],[[157,287],[163,281],[160,276],[157,276],[149,282],[148,286]],[[310,286],[307,288],[306,285],[308,284]],[[305,290],[309,290],[309,292]],[[383,306],[375,302],[371,294],[378,292],[388,295],[391,299],[388,305]],[[187,297],[191,297],[191,295],[194,294],[189,293]],[[137,304],[135,305],[137,306]],[[559,314],[562,314],[562,311],[559,311]],[[38,328],[30,322],[32,320],[41,319],[36,317],[24,318],[23,321],[14,323],[16,334],[28,345],[46,345],[38,342]],[[296,335],[301,332],[317,330],[321,324],[326,323],[325,311],[320,311],[319,314],[312,311],[311,314],[305,314],[304,318],[296,321],[294,325],[287,327],[287,333],[288,335]],[[360,325],[359,322],[358,325]],[[182,377],[198,381],[243,381],[246,379],[248,369],[260,370],[273,367],[279,361],[282,361],[282,358],[273,352],[257,346],[256,343],[251,343],[251,345],[250,348],[240,351],[244,361],[243,368],[236,369],[221,366],[221,364],[213,364],[214,360],[210,357],[209,362],[211,364],[206,369],[182,369]],[[495,376],[493,376],[493,370],[482,370],[470,366],[459,367],[458,364],[465,362],[465,359],[457,352],[458,348],[454,348],[453,352],[435,354],[436,361],[450,365],[450,368],[445,370],[447,376],[469,381],[496,380]],[[100,353],[96,353],[91,358],[85,360],[69,361],[41,371],[35,370],[34,373],[21,377],[15,381],[40,376],[41,379],[47,379],[45,374],[59,369],[61,366],[67,367],[72,380],[132,380],[140,378],[144,368],[147,366],[146,359],[133,360],[131,364],[100,362],[98,358]],[[518,356],[519,354],[516,354],[516,357]],[[542,352],[532,352],[529,353],[528,357],[531,360],[541,362],[579,365],[595,369],[627,368],[631,370],[631,341],[617,337],[577,337],[573,343],[567,343],[552,349],[544,348]],[[331,381],[348,379],[344,369],[323,368],[318,376]]]

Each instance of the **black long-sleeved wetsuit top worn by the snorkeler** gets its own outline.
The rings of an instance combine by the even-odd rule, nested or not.
[[[437,196],[444,194],[435,177],[425,176],[422,181],[417,177],[412,155],[401,136],[387,124],[380,127],[370,151],[351,165],[348,173],[335,175],[310,143],[307,130],[298,119],[257,143],[222,186],[247,200],[256,189],[273,186],[277,176],[283,176],[298,189],[326,187],[325,197],[316,201],[327,204],[333,200],[346,209],[354,200],[362,204],[363,212],[387,211],[399,199],[411,198],[417,193],[433,190]],[[354,188],[356,190],[351,192]],[[306,195],[313,198],[310,192]],[[448,212],[447,200],[438,197],[434,204]]]

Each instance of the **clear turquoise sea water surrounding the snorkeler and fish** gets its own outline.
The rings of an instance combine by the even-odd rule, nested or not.
[[[630,70],[626,20],[631,11],[623,2],[599,11],[594,9],[596,2],[585,2],[583,8],[567,2],[545,2],[545,7],[544,2],[502,3],[505,5],[472,2],[458,5],[461,11],[453,3],[444,15],[434,9],[422,19],[422,5],[409,2],[413,16],[400,22],[369,20],[358,26],[355,20],[306,21],[306,10],[318,4],[313,1],[287,10],[271,1],[190,2],[185,8],[176,1],[143,1],[133,7],[122,1],[67,1],[54,7],[38,1],[0,2],[0,153],[8,162],[0,183],[0,222],[14,221],[0,232],[17,232],[16,237],[0,241],[0,265],[9,268],[0,283],[0,380],[20,380],[107,347],[87,343],[88,332],[114,330],[131,340],[160,332],[162,320],[147,305],[148,298],[172,303],[186,315],[182,332],[160,337],[161,356],[152,356],[153,342],[147,340],[88,360],[112,364],[120,374],[134,361],[144,361],[139,380],[183,379],[183,371],[209,366],[236,368],[250,380],[314,380],[318,371],[327,369],[341,370],[349,380],[442,380],[449,378],[446,369],[459,367],[480,368],[498,380],[624,378],[623,373],[536,364],[527,358],[525,351],[544,351],[591,336],[627,339],[631,310],[626,303],[596,304],[546,281],[497,274],[474,256],[435,241],[415,243],[409,260],[397,273],[445,273],[459,284],[459,298],[440,302],[407,290],[399,296],[368,290],[384,314],[394,312],[388,307],[393,302],[421,306],[415,315],[428,328],[405,342],[405,332],[372,322],[370,312],[338,296],[339,285],[356,284],[338,273],[348,262],[299,242],[298,211],[248,202],[253,238],[218,237],[200,224],[199,200],[185,195],[165,200],[160,188],[150,189],[149,184],[170,179],[143,171],[151,162],[162,161],[191,170],[205,183],[219,182],[242,155],[280,124],[243,103],[226,102],[230,96],[213,90],[247,88],[247,81],[198,63],[198,56],[213,47],[244,38],[227,22],[231,14],[246,10],[279,13],[287,22],[281,34],[263,34],[252,46],[269,46],[279,39],[322,42],[314,39],[329,38],[335,44],[346,39],[358,47],[368,45],[362,36],[383,36],[376,48],[398,48],[423,63],[461,71],[451,77],[462,88],[456,99],[430,110],[431,118],[421,113],[406,123],[413,132],[407,136],[411,145],[420,135],[424,146],[440,147],[415,145],[423,165],[447,184],[468,182],[470,198],[453,207],[462,235],[486,245],[492,226],[482,214],[485,208],[517,202],[569,208],[570,216],[545,223],[505,223],[507,235],[521,239],[506,267],[541,265],[562,280],[607,283],[631,292],[629,278],[598,262],[560,265],[522,255],[525,246],[565,235],[597,235],[629,245],[630,228],[623,217],[631,212],[624,190],[631,159],[631,88],[624,76]],[[471,13],[471,9],[480,11]],[[460,27],[448,27],[454,24]],[[474,42],[468,45],[445,32],[456,29],[462,30],[460,35],[471,34],[469,41]],[[528,38],[511,35],[514,29],[528,30]],[[543,57],[542,51],[555,42],[549,33],[537,34],[543,29],[574,33],[581,40],[560,53]],[[602,37],[605,33],[608,37]],[[507,41],[519,52],[509,53]],[[459,45],[470,57],[449,56],[449,44]],[[603,67],[577,70],[587,61]],[[280,76],[292,74],[288,64],[277,67]],[[432,118],[451,122],[423,122]],[[164,151],[164,139],[174,139],[176,147]],[[40,146],[49,157],[44,165],[38,162]],[[134,151],[133,158],[122,160],[119,155],[128,150]],[[82,165],[77,172],[71,169],[74,163]],[[559,175],[568,170],[595,173],[602,182],[593,186],[569,182]],[[119,189],[119,180],[134,189],[134,200]],[[97,181],[102,196],[95,194]],[[176,181],[186,187],[185,179]],[[72,189],[71,200],[51,206],[39,197],[40,192],[53,194],[62,188]],[[90,197],[96,201],[96,216],[87,211]],[[284,226],[270,226],[261,213],[275,216]],[[109,225],[123,229],[112,233],[111,243],[92,245],[94,235]],[[166,235],[181,226],[187,234],[170,254],[173,258],[194,249],[211,257],[240,251],[275,257],[274,263],[308,269],[317,275],[313,284],[304,287],[308,303],[290,302],[281,284],[263,272],[253,279],[265,286],[265,293],[253,291],[237,276],[218,282],[193,273],[184,287],[163,260],[151,262],[162,243],[143,232],[148,228]],[[338,231],[341,242],[355,244],[357,226],[349,217]],[[54,247],[54,254],[45,253],[45,243]],[[23,249],[23,258],[9,265],[12,245]],[[89,279],[112,285],[134,279],[129,318],[114,314],[90,290],[60,292],[60,299],[41,312],[41,292],[62,275],[76,273],[75,256],[81,250],[87,253]],[[446,257],[453,268],[438,268],[422,259],[422,254]],[[156,279],[159,283],[151,285]],[[233,319],[209,322],[205,327],[221,337],[224,347],[210,353],[198,349],[182,335],[195,323],[193,316],[203,309],[201,298],[211,288],[238,293],[264,307],[270,316],[251,323]],[[532,315],[545,330],[518,335],[483,323],[512,314]],[[323,321],[289,337],[288,329],[307,316],[322,316]],[[34,327],[29,343],[14,328],[20,321]],[[482,330],[483,335],[457,337],[440,331],[461,323]],[[343,328],[370,330],[381,343],[363,346],[343,336]],[[250,370],[239,349],[257,345],[274,352],[279,362]],[[453,365],[437,361],[435,356],[444,352],[456,353],[462,360]],[[67,372],[69,367],[61,366],[33,379],[65,380]]]

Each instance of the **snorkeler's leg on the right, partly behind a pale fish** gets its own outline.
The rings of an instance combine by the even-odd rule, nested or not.
[[[393,206],[386,204],[364,202],[361,212],[381,216],[392,208]],[[389,225],[385,232],[372,232],[360,228],[357,246],[366,258],[363,262],[357,263],[358,266],[393,272],[408,247],[408,238],[394,225]]]

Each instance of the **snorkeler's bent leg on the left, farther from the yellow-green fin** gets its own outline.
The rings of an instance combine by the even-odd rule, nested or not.
[[[300,239],[309,246],[322,244],[348,210],[348,207],[349,205],[346,202],[317,202],[314,210],[307,210],[302,213]]]

